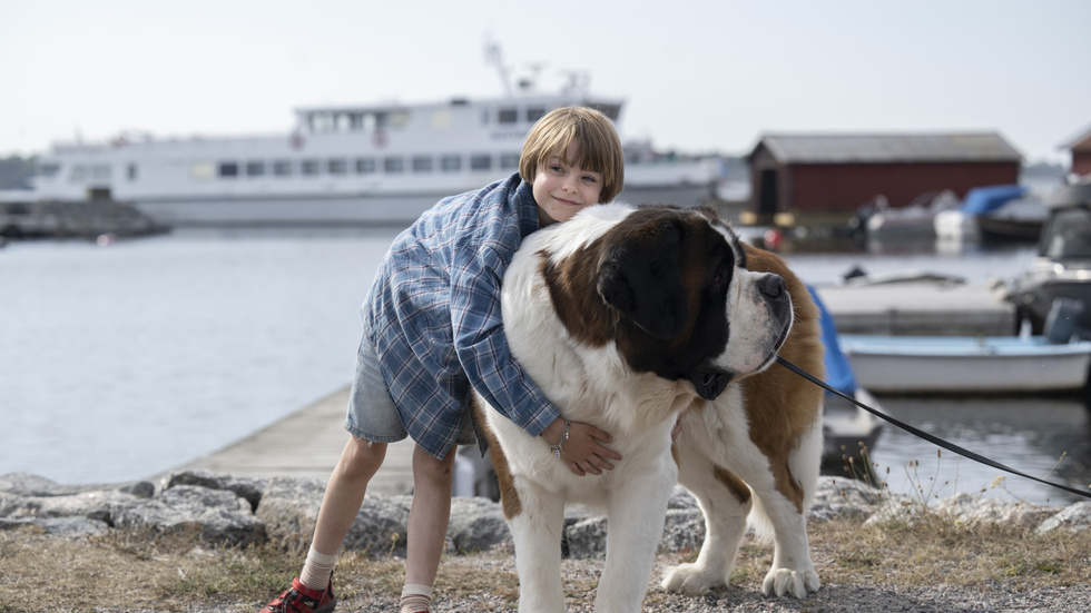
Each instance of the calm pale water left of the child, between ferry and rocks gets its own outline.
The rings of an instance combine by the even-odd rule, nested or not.
[[[351,380],[394,230],[0,250],[0,474],[147,478]]]

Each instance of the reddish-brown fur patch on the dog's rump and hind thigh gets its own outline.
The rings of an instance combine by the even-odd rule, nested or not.
[[[819,379],[825,378],[818,308],[810,293],[779,257],[749,245],[745,248],[747,269],[779,275],[792,296],[795,323],[780,355]],[[788,458],[800,437],[810,432],[819,418],[816,407],[822,406],[822,389],[800,385],[800,380],[786,368],[774,365],[740,384],[746,397],[750,441],[769,458],[777,491],[803,513],[803,487],[792,474]]]

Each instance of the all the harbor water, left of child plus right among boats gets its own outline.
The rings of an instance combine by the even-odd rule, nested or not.
[[[179,230],[0,249],[0,474],[148,478],[348,384],[360,305],[393,228]],[[926,269],[1012,277],[1032,249],[789,254],[805,280]],[[1091,414],[1068,398],[879,397],[891,414],[1009,466],[1091,478]],[[1062,457],[1063,454],[1063,457]],[[995,469],[887,426],[872,462],[893,492],[979,492]],[[920,464],[918,466],[916,464]],[[887,468],[889,469],[887,473]],[[1009,477],[986,496],[1063,504]]]

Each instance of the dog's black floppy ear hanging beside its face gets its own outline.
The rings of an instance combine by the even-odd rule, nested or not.
[[[681,234],[676,224],[646,224],[615,243],[599,265],[602,299],[658,338],[671,338],[686,326]]]

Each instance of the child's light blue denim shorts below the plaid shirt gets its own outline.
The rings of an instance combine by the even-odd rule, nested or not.
[[[375,443],[396,443],[409,433],[397,415],[397,407],[390,397],[383,373],[379,368],[379,354],[365,332],[356,350],[356,374],[348,393],[348,415],[345,429],[356,438]],[[469,407],[462,419],[456,443],[472,445],[475,441]]]

